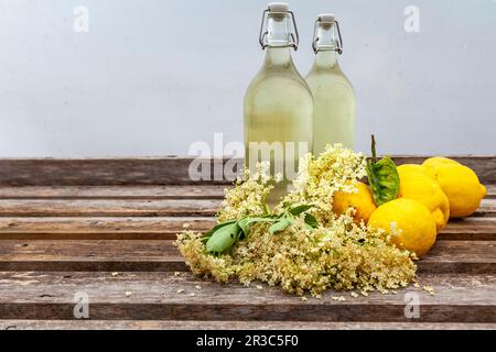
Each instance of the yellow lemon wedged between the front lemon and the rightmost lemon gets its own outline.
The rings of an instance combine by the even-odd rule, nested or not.
[[[450,219],[450,201],[438,182],[425,175],[421,165],[398,166],[398,174],[400,176],[398,198],[421,202],[434,217],[438,232],[444,229]]]

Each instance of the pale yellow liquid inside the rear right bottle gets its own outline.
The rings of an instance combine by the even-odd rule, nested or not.
[[[355,92],[336,56],[334,51],[319,52],[306,76],[315,109],[314,155],[322,153],[326,144],[355,146]]]

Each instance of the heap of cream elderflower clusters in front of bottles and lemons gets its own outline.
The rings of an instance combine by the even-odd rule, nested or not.
[[[193,273],[223,283],[261,280],[289,293],[314,296],[326,289],[357,289],[365,295],[405,287],[416,276],[412,254],[389,242],[384,231],[355,223],[351,212],[339,217],[332,212],[333,194],[353,191],[357,179],[365,176],[365,163],[360,154],[341,145],[327,147],[317,158],[309,155],[302,163],[293,191],[274,211],[312,204],[317,229],[310,229],[302,218],[277,234],[268,231],[270,224],[255,223],[246,239],[219,256],[205,251],[202,233],[185,230],[176,244]],[[246,172],[245,178],[226,191],[218,221],[266,211],[265,198],[272,186],[265,170],[267,165],[260,165],[254,175]]]

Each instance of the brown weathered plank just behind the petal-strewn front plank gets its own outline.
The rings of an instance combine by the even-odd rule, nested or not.
[[[438,241],[423,273],[496,273],[495,241]],[[0,271],[187,271],[172,241],[3,240]]]

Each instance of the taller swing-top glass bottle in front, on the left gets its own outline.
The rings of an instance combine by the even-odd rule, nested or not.
[[[250,170],[268,161],[272,176],[282,176],[267,199],[273,206],[288,191],[299,160],[312,151],[313,99],[291,57],[299,36],[287,3],[268,4],[259,42],[266,59],[245,96],[245,161]]]

